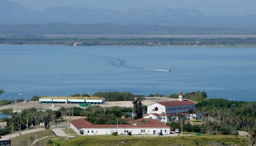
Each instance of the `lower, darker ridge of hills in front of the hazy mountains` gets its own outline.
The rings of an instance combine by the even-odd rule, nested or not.
[[[159,25],[99,24],[0,24],[0,35],[218,35],[256,34],[256,30],[231,28],[193,28]]]

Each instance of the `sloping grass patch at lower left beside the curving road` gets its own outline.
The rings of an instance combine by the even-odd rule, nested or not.
[[[40,138],[46,137],[46,136],[54,136],[51,129],[47,129],[47,130],[44,130],[44,131],[37,132],[37,139],[40,139]],[[12,146],[23,146],[23,145],[27,146],[30,137],[33,137],[35,139],[35,132],[20,135],[19,137],[11,138],[11,140],[12,140],[11,145]]]

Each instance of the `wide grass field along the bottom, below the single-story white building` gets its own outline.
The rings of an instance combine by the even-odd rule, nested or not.
[[[248,146],[245,136],[202,135],[178,137],[132,137],[121,136],[121,146]],[[76,138],[57,138],[55,146],[118,146],[119,136],[97,135]]]

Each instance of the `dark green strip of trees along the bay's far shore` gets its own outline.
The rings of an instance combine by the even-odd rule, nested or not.
[[[0,44],[69,46],[213,46],[255,47],[256,38],[45,38],[5,37]]]

